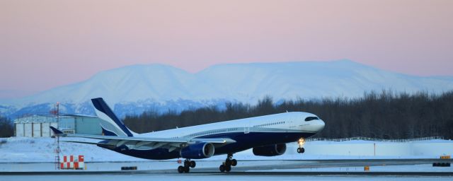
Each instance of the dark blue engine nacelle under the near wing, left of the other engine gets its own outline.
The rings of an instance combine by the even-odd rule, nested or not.
[[[214,145],[210,143],[190,144],[180,151],[182,158],[199,159],[210,158],[214,155]]]

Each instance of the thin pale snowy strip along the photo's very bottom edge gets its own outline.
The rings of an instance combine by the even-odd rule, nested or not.
[[[385,181],[403,181],[403,180],[452,180],[451,176],[419,176],[419,175],[294,175],[291,173],[190,173],[190,174],[91,174],[91,175],[1,175],[0,180],[64,180],[64,181],[135,181],[135,180],[385,180]]]

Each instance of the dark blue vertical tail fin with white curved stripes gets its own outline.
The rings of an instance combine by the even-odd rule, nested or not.
[[[96,115],[101,118],[103,133],[107,136],[134,136],[134,132],[127,129],[125,124],[113,114],[103,98],[91,99]]]

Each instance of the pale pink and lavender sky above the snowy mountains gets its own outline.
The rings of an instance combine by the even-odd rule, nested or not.
[[[0,1],[0,98],[130,64],[351,59],[453,75],[453,1]]]

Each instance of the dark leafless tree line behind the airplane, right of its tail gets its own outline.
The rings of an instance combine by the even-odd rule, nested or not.
[[[314,113],[326,122],[326,127],[316,137],[408,139],[444,136],[445,139],[453,139],[453,91],[442,94],[368,92],[360,98],[297,99],[278,104],[272,98],[265,97],[256,105],[226,103],[225,107],[207,106],[164,114],[148,110],[141,115],[127,115],[124,122],[134,132],[143,133],[302,111]]]

